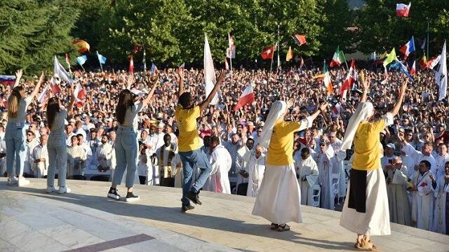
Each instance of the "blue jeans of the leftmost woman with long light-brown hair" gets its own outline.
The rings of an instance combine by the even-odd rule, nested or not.
[[[6,125],[6,172],[8,176],[22,176],[25,166],[25,124],[8,123]],[[15,169],[14,165],[15,158]]]

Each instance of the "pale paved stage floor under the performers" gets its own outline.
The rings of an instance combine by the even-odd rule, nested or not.
[[[202,192],[203,205],[182,214],[177,188],[136,186],[141,200],[130,204],[107,199],[105,182],[67,181],[66,195],[45,193],[45,179],[31,182],[0,179],[0,251],[354,251],[337,211],[302,207],[304,223],[277,232],[251,215],[250,197]],[[380,251],[449,251],[449,236],[391,228],[373,237]]]

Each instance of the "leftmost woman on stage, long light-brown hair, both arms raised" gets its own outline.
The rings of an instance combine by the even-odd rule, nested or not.
[[[23,177],[23,167],[25,165],[25,116],[29,104],[32,103],[39,87],[43,82],[43,72],[34,90],[29,96],[25,96],[25,88],[19,85],[22,70],[17,71],[16,80],[8,97],[8,124],[6,125],[6,172],[8,174],[8,185],[26,186],[29,181]],[[15,160],[15,167],[14,165]],[[16,174],[18,173],[18,174]],[[16,178],[16,175],[18,178]]]

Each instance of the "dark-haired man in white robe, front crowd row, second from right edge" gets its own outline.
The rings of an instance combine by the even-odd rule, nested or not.
[[[408,188],[413,193],[412,221],[416,228],[432,230],[434,216],[434,187],[435,175],[431,172],[430,162],[422,160],[419,170],[410,178],[412,187]]]

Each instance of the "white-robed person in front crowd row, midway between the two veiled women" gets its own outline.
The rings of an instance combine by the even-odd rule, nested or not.
[[[319,183],[321,186],[320,207],[324,209],[334,209],[335,192],[332,188],[333,174],[338,175],[338,167],[333,167],[334,150],[330,146],[325,135],[321,137],[319,144],[320,151],[316,153],[316,163],[319,171]]]

